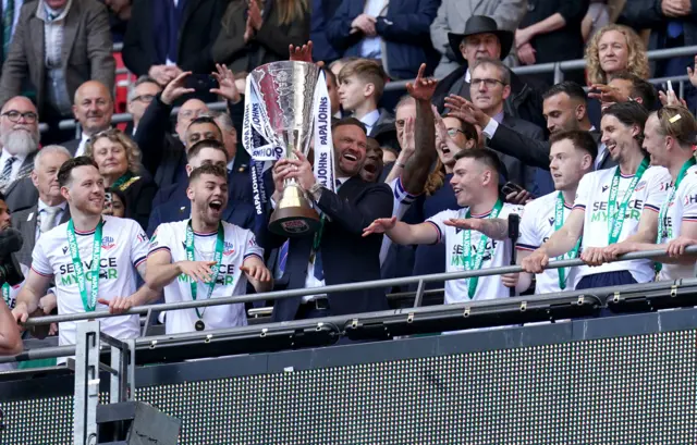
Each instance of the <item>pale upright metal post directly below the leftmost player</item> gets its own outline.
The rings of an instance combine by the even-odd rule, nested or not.
[[[99,321],[75,323],[74,444],[97,443],[99,403]]]

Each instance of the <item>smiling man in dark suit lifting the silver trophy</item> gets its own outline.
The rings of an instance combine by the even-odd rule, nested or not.
[[[392,215],[392,191],[387,184],[370,184],[360,178],[366,158],[365,126],[347,118],[333,125],[335,175],[338,191],[316,182],[313,168],[304,156],[299,160],[283,159],[273,168],[276,191],[272,202],[279,202],[283,181],[295,178],[315,207],[322,212],[321,227],[314,236],[286,238],[261,230],[257,236],[269,251],[288,239],[288,259],[278,289],[318,287],[380,279],[380,245],[382,236],[363,236],[376,218]],[[273,321],[310,319],[388,309],[383,289],[366,289],[293,297],[276,301]]]

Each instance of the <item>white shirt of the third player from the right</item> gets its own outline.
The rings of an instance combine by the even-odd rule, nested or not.
[[[525,206],[525,212],[521,219],[521,237],[516,244],[518,250],[533,251],[545,244],[554,233],[554,218],[557,211],[557,197],[559,191],[541,196]],[[572,206],[564,202],[564,221],[571,213]],[[560,258],[561,259],[561,258]],[[574,288],[574,275],[578,268],[565,268],[566,287]],[[549,294],[560,292],[559,269],[547,269],[535,275],[535,294]]]

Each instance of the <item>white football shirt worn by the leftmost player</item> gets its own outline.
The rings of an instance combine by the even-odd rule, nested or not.
[[[133,220],[102,218],[105,223],[101,228],[99,258],[99,298],[111,300],[114,297],[129,297],[136,291],[136,268],[147,258],[148,238],[140,225]],[[75,237],[84,271],[88,272],[93,267],[91,245],[95,231],[75,231]],[[58,313],[85,312],[68,246],[68,223],[41,234],[32,255],[32,269],[39,275],[54,277]],[[87,281],[87,296],[89,289],[90,284]],[[108,306],[97,302],[97,312],[108,310]],[[135,338],[140,333],[138,316],[108,317],[99,321],[101,331],[115,338]],[[60,323],[58,331],[59,345],[75,344],[75,322]]]

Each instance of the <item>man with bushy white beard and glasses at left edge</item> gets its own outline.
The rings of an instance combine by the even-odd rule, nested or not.
[[[36,107],[23,96],[8,100],[0,111],[0,191],[9,195],[19,180],[34,170],[39,146],[39,116]]]

